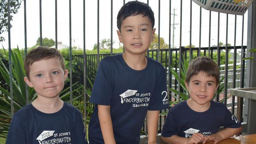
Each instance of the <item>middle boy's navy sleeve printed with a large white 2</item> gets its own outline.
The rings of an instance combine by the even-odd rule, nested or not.
[[[166,83],[166,74],[165,69],[161,67],[161,75],[159,76],[158,83],[154,88],[154,92],[152,95],[152,100],[150,100],[150,104],[148,110],[156,111],[161,109],[169,108],[169,100],[167,96],[167,83]]]

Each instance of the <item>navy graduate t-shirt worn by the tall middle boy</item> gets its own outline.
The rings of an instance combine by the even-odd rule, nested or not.
[[[122,55],[101,60],[89,102],[111,105],[110,113],[117,144],[138,144],[148,110],[168,109],[165,68],[147,57],[143,70],[134,70]],[[89,123],[90,144],[104,144],[98,107]]]

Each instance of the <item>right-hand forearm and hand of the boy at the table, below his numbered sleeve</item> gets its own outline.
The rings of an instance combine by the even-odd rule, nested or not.
[[[214,133],[214,134],[209,135],[208,137],[204,138],[203,143],[205,143],[208,140],[213,140],[214,144],[216,144],[217,142],[220,142],[221,140],[224,140],[226,138],[229,138],[229,137],[232,137],[232,136],[236,135],[241,130],[242,130],[242,127],[223,129],[222,131],[219,131],[217,133]]]

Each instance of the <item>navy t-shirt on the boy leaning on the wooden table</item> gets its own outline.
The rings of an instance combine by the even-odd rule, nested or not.
[[[226,105],[219,102],[210,101],[210,108],[205,112],[193,111],[187,101],[178,103],[171,107],[163,125],[162,137],[189,138],[194,133],[201,133],[208,136],[217,133],[219,128],[238,128],[241,123],[227,109]]]

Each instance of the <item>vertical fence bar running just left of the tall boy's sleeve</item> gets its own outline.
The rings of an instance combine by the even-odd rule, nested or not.
[[[87,94],[86,94],[86,53],[85,53],[85,0],[83,0],[83,111],[84,111],[84,127],[86,129],[86,121],[87,121]],[[86,137],[86,131],[85,131],[85,137]]]

